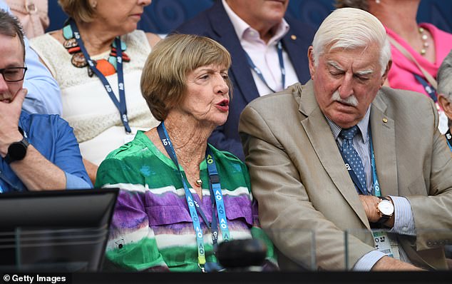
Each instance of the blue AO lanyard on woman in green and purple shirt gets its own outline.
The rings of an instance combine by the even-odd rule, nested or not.
[[[200,265],[200,268],[202,269],[202,271],[205,271],[205,269],[204,269],[204,265],[206,263],[205,248],[204,248],[204,241],[203,241],[203,237],[202,237],[200,218],[198,218],[197,213],[200,213],[201,218],[204,220],[204,223],[212,231],[213,245],[217,245],[217,238],[218,238],[218,228],[217,227],[218,227],[218,225],[217,225],[217,218],[215,218],[215,205],[216,205],[217,214],[218,214],[218,223],[220,223],[220,230],[222,232],[222,238],[225,242],[227,242],[230,239],[229,228],[227,226],[225,204],[223,202],[221,186],[220,186],[220,176],[218,176],[217,166],[215,164],[215,158],[212,155],[212,150],[210,150],[210,148],[207,146],[205,156],[206,156],[206,161],[207,161],[207,171],[209,173],[210,201],[212,203],[212,224],[209,225],[209,221],[207,220],[205,214],[202,212],[199,204],[195,201],[195,198],[193,198],[192,193],[190,193],[190,190],[188,189],[188,185],[185,182],[183,173],[182,173],[182,171],[180,171],[178,157],[175,154],[175,151],[173,148],[173,143],[171,143],[170,136],[168,135],[168,132],[166,131],[165,123],[163,121],[162,121],[162,123],[160,123],[157,126],[157,131],[158,131],[158,136],[160,137],[160,140],[162,141],[163,146],[165,147],[165,150],[168,153],[168,156],[170,156],[171,160],[173,161],[173,163],[175,163],[175,166],[178,168],[180,179],[183,183],[183,187],[184,187],[184,191],[185,191],[185,199],[187,200],[188,209],[190,211],[190,216],[192,218],[193,228],[195,229],[195,233],[196,233],[198,264]],[[214,199],[215,199],[215,201],[214,201]]]

